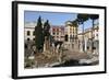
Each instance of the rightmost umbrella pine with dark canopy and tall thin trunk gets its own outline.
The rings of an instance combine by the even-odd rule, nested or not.
[[[93,39],[94,39],[94,36],[93,36],[93,31],[94,31],[94,27],[95,27],[95,20],[97,20],[99,18],[98,14],[90,14],[89,15],[89,19],[92,20],[92,23],[93,23],[93,27],[92,27],[92,53],[93,53]]]

